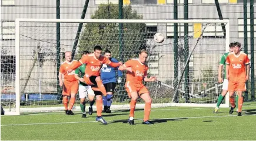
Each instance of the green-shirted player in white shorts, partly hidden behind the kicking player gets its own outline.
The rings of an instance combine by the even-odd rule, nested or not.
[[[89,54],[89,51],[84,51],[83,55]],[[92,90],[90,85],[87,85],[84,83],[84,74],[85,74],[85,64],[82,64],[80,67],[75,70],[75,78],[79,80],[79,98],[80,98],[80,108],[82,111],[82,118],[86,118],[87,114],[85,112],[85,97],[87,97],[88,94],[88,99],[89,99],[89,115],[92,115],[92,105],[94,105],[94,91]],[[78,74],[80,73],[81,77],[78,77]]]

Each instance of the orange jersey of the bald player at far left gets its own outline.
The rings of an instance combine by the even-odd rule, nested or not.
[[[64,61],[61,64],[61,67],[59,68],[59,73],[64,74],[64,81],[77,81],[77,79],[75,78],[75,70],[71,71],[71,73],[67,73],[69,66],[71,66],[72,64],[76,64],[77,62],[77,60],[73,60],[71,63],[69,63],[68,61]]]

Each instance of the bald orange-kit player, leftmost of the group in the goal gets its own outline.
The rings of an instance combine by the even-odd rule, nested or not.
[[[72,64],[77,64],[77,60],[72,60],[71,51],[66,51],[65,61],[59,68],[59,86],[63,86],[63,104],[67,115],[74,115],[71,109],[75,103],[75,95],[78,91],[78,80],[75,78],[75,71],[68,72],[68,68]],[[64,82],[62,82],[62,75],[64,75]],[[69,106],[68,97],[70,97]]]

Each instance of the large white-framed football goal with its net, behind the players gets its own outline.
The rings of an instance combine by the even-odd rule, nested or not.
[[[9,114],[64,110],[58,69],[65,51],[74,49],[76,36],[75,60],[95,45],[122,62],[148,50],[148,76],[157,76],[157,81],[144,83],[152,107],[215,106],[222,86],[217,68],[230,43],[228,20],[16,19],[12,32],[15,40],[2,42],[6,53],[1,54],[1,105]],[[157,32],[163,33],[164,42],[154,41]],[[125,73],[111,109],[129,108]],[[228,98],[222,106],[228,106]],[[144,107],[141,99],[137,107]],[[80,110],[78,95],[73,110]]]

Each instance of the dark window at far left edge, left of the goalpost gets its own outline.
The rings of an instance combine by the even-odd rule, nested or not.
[[[1,56],[1,73],[15,74],[15,56]]]

